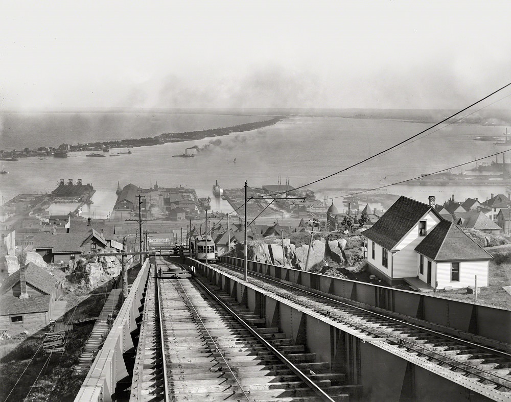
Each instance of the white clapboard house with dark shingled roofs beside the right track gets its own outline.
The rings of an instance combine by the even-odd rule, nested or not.
[[[462,288],[473,286],[473,273],[478,272],[479,286],[487,286],[490,254],[458,226],[444,220],[431,205],[400,197],[362,234],[367,238],[369,271],[391,285],[406,281],[414,288],[429,291],[446,286]],[[456,247],[463,255],[458,255]],[[454,273],[457,270],[458,279],[453,274],[452,280],[447,281],[447,263],[452,263]],[[472,282],[468,283],[470,277]]]

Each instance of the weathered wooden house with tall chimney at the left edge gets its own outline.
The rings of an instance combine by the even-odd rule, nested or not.
[[[62,281],[33,263],[9,275],[0,288],[0,325],[48,325]]]

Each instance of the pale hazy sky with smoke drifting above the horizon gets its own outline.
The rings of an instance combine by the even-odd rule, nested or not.
[[[458,108],[511,81],[508,0],[0,7],[0,109]]]

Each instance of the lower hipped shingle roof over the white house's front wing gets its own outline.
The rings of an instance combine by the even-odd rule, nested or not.
[[[436,262],[493,258],[459,226],[448,221],[440,221],[415,251]]]

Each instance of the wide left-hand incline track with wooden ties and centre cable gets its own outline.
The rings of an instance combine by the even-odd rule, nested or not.
[[[342,374],[177,263],[152,268],[133,400],[350,400]],[[156,276],[161,268],[161,278]],[[171,271],[171,273],[169,273]],[[355,389],[357,389],[355,387]]]

